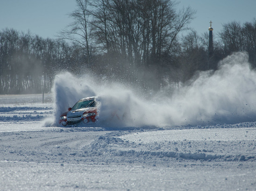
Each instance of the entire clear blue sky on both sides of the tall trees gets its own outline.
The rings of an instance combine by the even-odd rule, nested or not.
[[[199,34],[208,32],[212,20],[214,32],[222,24],[238,21],[243,24],[256,18],[256,0],[179,0],[182,6],[197,11],[189,25]],[[0,0],[0,30],[13,28],[20,32],[56,38],[72,19],[67,16],[75,9],[75,0]]]

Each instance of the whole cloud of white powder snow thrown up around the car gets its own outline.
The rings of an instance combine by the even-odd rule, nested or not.
[[[56,76],[53,93],[56,123],[68,107],[88,96],[97,96],[101,127],[213,125],[256,117],[256,72],[242,52],[222,60],[214,73],[199,73],[191,85],[169,97],[159,94],[145,100],[124,85],[95,83],[93,77],[70,73]]]

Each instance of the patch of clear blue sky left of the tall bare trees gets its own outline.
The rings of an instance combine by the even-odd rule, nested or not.
[[[67,14],[75,5],[75,0],[0,0],[0,30],[29,30],[43,38],[56,38],[72,22]]]

